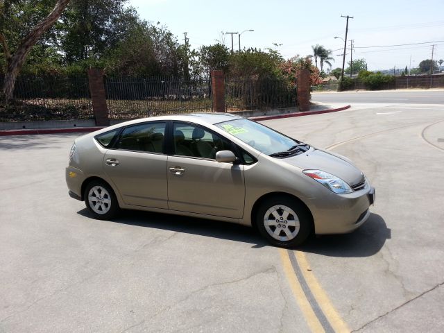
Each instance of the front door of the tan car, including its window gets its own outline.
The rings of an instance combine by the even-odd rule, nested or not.
[[[219,163],[217,151],[232,150],[228,140],[192,123],[173,123],[173,156],[168,157],[170,210],[241,219],[244,169]]]

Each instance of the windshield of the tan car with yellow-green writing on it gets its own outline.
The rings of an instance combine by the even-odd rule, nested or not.
[[[307,151],[309,148],[308,145],[298,140],[291,139],[291,137],[248,119],[224,121],[215,125],[261,153],[273,157],[287,157],[294,153]]]

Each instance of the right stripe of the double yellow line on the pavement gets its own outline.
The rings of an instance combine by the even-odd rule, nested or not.
[[[305,257],[305,253],[300,251],[294,251],[296,255],[296,259],[300,266],[300,270],[302,271],[302,275],[304,275],[305,282],[307,282],[311,293],[313,293],[314,298],[316,298],[316,302],[321,307],[327,321],[332,325],[335,332],[350,332],[347,324],[342,320],[341,316],[339,316],[336,309],[334,309],[332,302],[328,298],[325,291],[322,289],[321,284],[319,284],[318,280],[314,276],[314,273],[311,271],[309,263],[307,262],[307,257]]]

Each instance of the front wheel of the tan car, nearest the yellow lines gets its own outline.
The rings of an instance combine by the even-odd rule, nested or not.
[[[255,219],[262,236],[281,248],[299,246],[313,230],[311,214],[307,208],[290,196],[274,196],[264,200]]]

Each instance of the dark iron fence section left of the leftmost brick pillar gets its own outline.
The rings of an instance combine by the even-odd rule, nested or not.
[[[86,77],[17,78],[14,101],[0,105],[0,121],[93,118]]]

